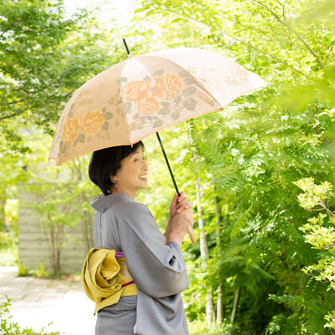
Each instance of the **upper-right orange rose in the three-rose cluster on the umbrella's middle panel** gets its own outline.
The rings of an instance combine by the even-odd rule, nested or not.
[[[158,98],[173,99],[184,88],[183,80],[172,73],[162,77],[154,76],[153,79],[155,80],[155,86],[153,87],[152,96],[157,96]]]

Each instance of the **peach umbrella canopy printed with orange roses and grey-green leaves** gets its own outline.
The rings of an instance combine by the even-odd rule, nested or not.
[[[82,85],[65,106],[49,160],[144,137],[192,117],[220,111],[251,89],[256,74],[216,53],[176,48],[130,57]]]

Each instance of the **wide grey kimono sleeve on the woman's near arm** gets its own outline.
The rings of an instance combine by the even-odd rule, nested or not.
[[[178,294],[188,287],[180,246],[176,242],[165,245],[165,237],[145,205],[128,203],[118,221],[127,268],[141,291],[159,298]]]

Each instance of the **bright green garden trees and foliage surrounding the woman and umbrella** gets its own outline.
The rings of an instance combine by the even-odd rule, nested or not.
[[[0,2],[0,264],[18,264],[22,185],[42,199],[31,202],[41,227],[60,238],[50,252],[70,242],[65,226],[91,224],[90,156],[58,168],[47,157],[71,94],[126,58],[120,35],[133,56],[204,48],[268,85],[160,133],[195,202],[199,242],[183,244],[190,333],[334,333],[335,1],[133,1],[124,20],[115,6],[69,16],[61,0]],[[163,230],[174,188],[155,136],[144,144],[149,187],[136,200]]]

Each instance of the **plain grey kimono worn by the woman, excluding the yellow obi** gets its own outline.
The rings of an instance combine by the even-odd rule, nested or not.
[[[96,196],[91,206],[95,247],[122,251],[138,287],[137,296],[98,312],[95,335],[187,335],[180,292],[189,282],[180,246],[166,246],[149,209],[126,194]]]

